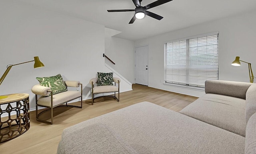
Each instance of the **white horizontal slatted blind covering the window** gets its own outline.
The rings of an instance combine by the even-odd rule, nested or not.
[[[215,33],[165,43],[165,83],[204,87],[206,80],[218,80],[218,37]]]

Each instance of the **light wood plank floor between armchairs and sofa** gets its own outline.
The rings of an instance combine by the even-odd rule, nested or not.
[[[120,93],[120,102],[105,97],[96,99],[94,105],[90,105],[91,99],[83,101],[82,109],[56,108],[54,109],[53,125],[36,121],[35,111],[31,111],[30,129],[23,135],[0,144],[0,154],[56,154],[63,129],[82,121],[142,101],[149,101],[178,112],[198,98],[139,84],[133,84],[132,89],[132,91]],[[42,117],[50,119],[50,116],[46,114]]]

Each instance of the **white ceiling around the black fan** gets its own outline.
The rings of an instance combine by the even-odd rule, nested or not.
[[[107,12],[134,9],[132,0],[20,0],[56,12],[122,31],[116,37],[137,40],[182,29],[206,21],[256,10],[256,0],[173,0],[148,11],[163,16],[160,21],[146,16],[128,24],[134,12]],[[142,6],[156,0],[143,0]]]

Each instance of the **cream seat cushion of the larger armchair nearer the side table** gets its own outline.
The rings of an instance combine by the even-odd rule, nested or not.
[[[66,101],[69,101],[71,99],[74,99],[80,96],[81,96],[81,92],[78,92],[78,91],[66,91],[66,92],[58,93],[52,96],[53,106],[59,105],[61,103],[64,103]],[[51,107],[51,97],[41,96],[38,98],[37,103],[38,105]]]

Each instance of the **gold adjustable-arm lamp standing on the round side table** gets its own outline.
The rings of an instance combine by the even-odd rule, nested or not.
[[[31,61],[28,61],[28,62],[35,62],[34,63],[34,68],[38,68],[38,67],[44,67],[44,64],[42,62],[40,62],[39,58],[38,57],[34,57],[34,60],[31,60]],[[28,63],[28,62],[22,62],[20,64],[25,64],[25,63]],[[8,72],[10,71],[10,69],[12,68],[12,66],[15,66],[15,65],[19,65],[19,64],[10,64],[10,65],[7,65],[7,69],[6,71],[4,72],[3,76],[0,78],[0,85],[2,84],[4,78],[6,77],[6,75],[8,74]],[[0,96],[0,99],[4,99],[4,98],[7,98],[8,96]]]

